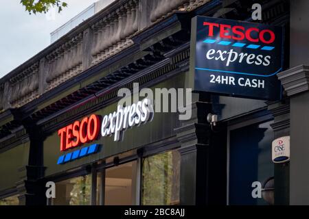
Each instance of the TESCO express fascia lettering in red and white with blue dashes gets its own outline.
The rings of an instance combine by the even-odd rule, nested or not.
[[[60,137],[60,151],[66,152],[78,146],[98,140],[101,136],[114,135],[114,141],[123,139],[126,129],[150,122],[154,116],[154,111],[150,99],[143,99],[132,105],[122,107],[117,106],[117,111],[105,116],[92,114],[75,121],[58,130]],[[73,152],[61,155],[57,164],[65,164],[80,157],[85,157],[93,153],[98,153],[99,144],[84,146]]]

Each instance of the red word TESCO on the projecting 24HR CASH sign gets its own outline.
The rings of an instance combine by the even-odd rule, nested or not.
[[[258,29],[257,27],[245,28],[240,25],[225,25],[220,23],[203,22],[204,26],[208,26],[208,36],[214,36],[214,30],[220,31],[220,38],[233,40],[247,39],[250,42],[262,42],[271,44],[275,41],[275,33],[271,29]],[[253,33],[256,33],[253,37]]]

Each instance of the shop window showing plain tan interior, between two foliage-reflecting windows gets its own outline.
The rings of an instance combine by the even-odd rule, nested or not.
[[[137,162],[128,162],[105,172],[105,205],[137,204]]]

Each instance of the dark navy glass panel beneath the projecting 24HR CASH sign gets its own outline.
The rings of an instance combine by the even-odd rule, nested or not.
[[[273,177],[271,142],[274,136],[271,123],[230,131],[229,205],[267,205],[253,190]]]

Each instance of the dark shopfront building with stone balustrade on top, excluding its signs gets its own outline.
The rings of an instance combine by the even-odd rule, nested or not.
[[[298,146],[293,151],[292,130],[299,118],[290,109],[308,101],[288,90],[284,73],[306,72],[292,68],[306,58],[290,58],[290,27],[300,28],[294,16],[301,16],[306,1],[261,1],[262,23],[286,30],[281,101],[193,93],[189,120],[179,120],[179,112],[155,112],[124,131],[122,140],[99,134],[77,147],[78,159],[72,153],[62,162],[69,152],[60,151],[58,131],[117,111],[119,89],[132,90],[133,83],[139,89],[192,88],[194,16],[251,21],[249,1],[163,2],[115,1],[0,79],[0,205],[297,203],[295,185],[304,181],[302,188],[308,179],[299,179],[299,164],[292,165],[293,155],[300,155]],[[216,126],[208,114],[218,115]],[[282,136],[291,136],[291,162],[274,164],[271,144]],[[55,183],[56,198],[46,197],[47,182]],[[256,182],[268,198],[263,191],[252,195]]]

